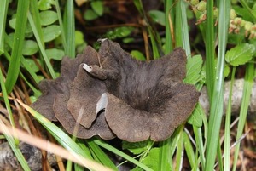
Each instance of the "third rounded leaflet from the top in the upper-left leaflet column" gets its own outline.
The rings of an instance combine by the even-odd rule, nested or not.
[[[44,42],[48,43],[61,35],[61,27],[57,25],[47,26],[43,29]]]

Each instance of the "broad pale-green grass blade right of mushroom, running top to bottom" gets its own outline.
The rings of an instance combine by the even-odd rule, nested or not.
[[[211,1],[209,1],[211,2]],[[208,3],[208,2],[207,2]],[[212,92],[212,101],[209,118],[209,131],[207,138],[206,170],[213,170],[218,147],[218,136],[223,116],[224,102],[224,55],[230,23],[230,0],[219,2],[218,25],[218,62],[216,68],[216,81]],[[209,74],[209,72],[208,72]],[[213,77],[215,79],[215,77]]]

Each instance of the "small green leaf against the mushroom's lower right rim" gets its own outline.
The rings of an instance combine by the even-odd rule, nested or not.
[[[188,123],[194,125],[196,127],[202,126],[202,115],[204,115],[204,111],[200,104],[195,106],[195,110],[193,111],[192,115],[188,119]]]

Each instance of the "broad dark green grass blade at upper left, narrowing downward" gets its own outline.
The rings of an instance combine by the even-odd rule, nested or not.
[[[29,7],[29,1],[27,0],[18,1],[18,9],[16,14],[16,25],[15,25],[14,48],[12,49],[11,60],[9,62],[9,69],[7,72],[7,77],[5,82],[8,94],[14,88],[19,75],[19,71],[20,71],[20,59],[21,59],[25,31],[26,31],[28,7]]]

